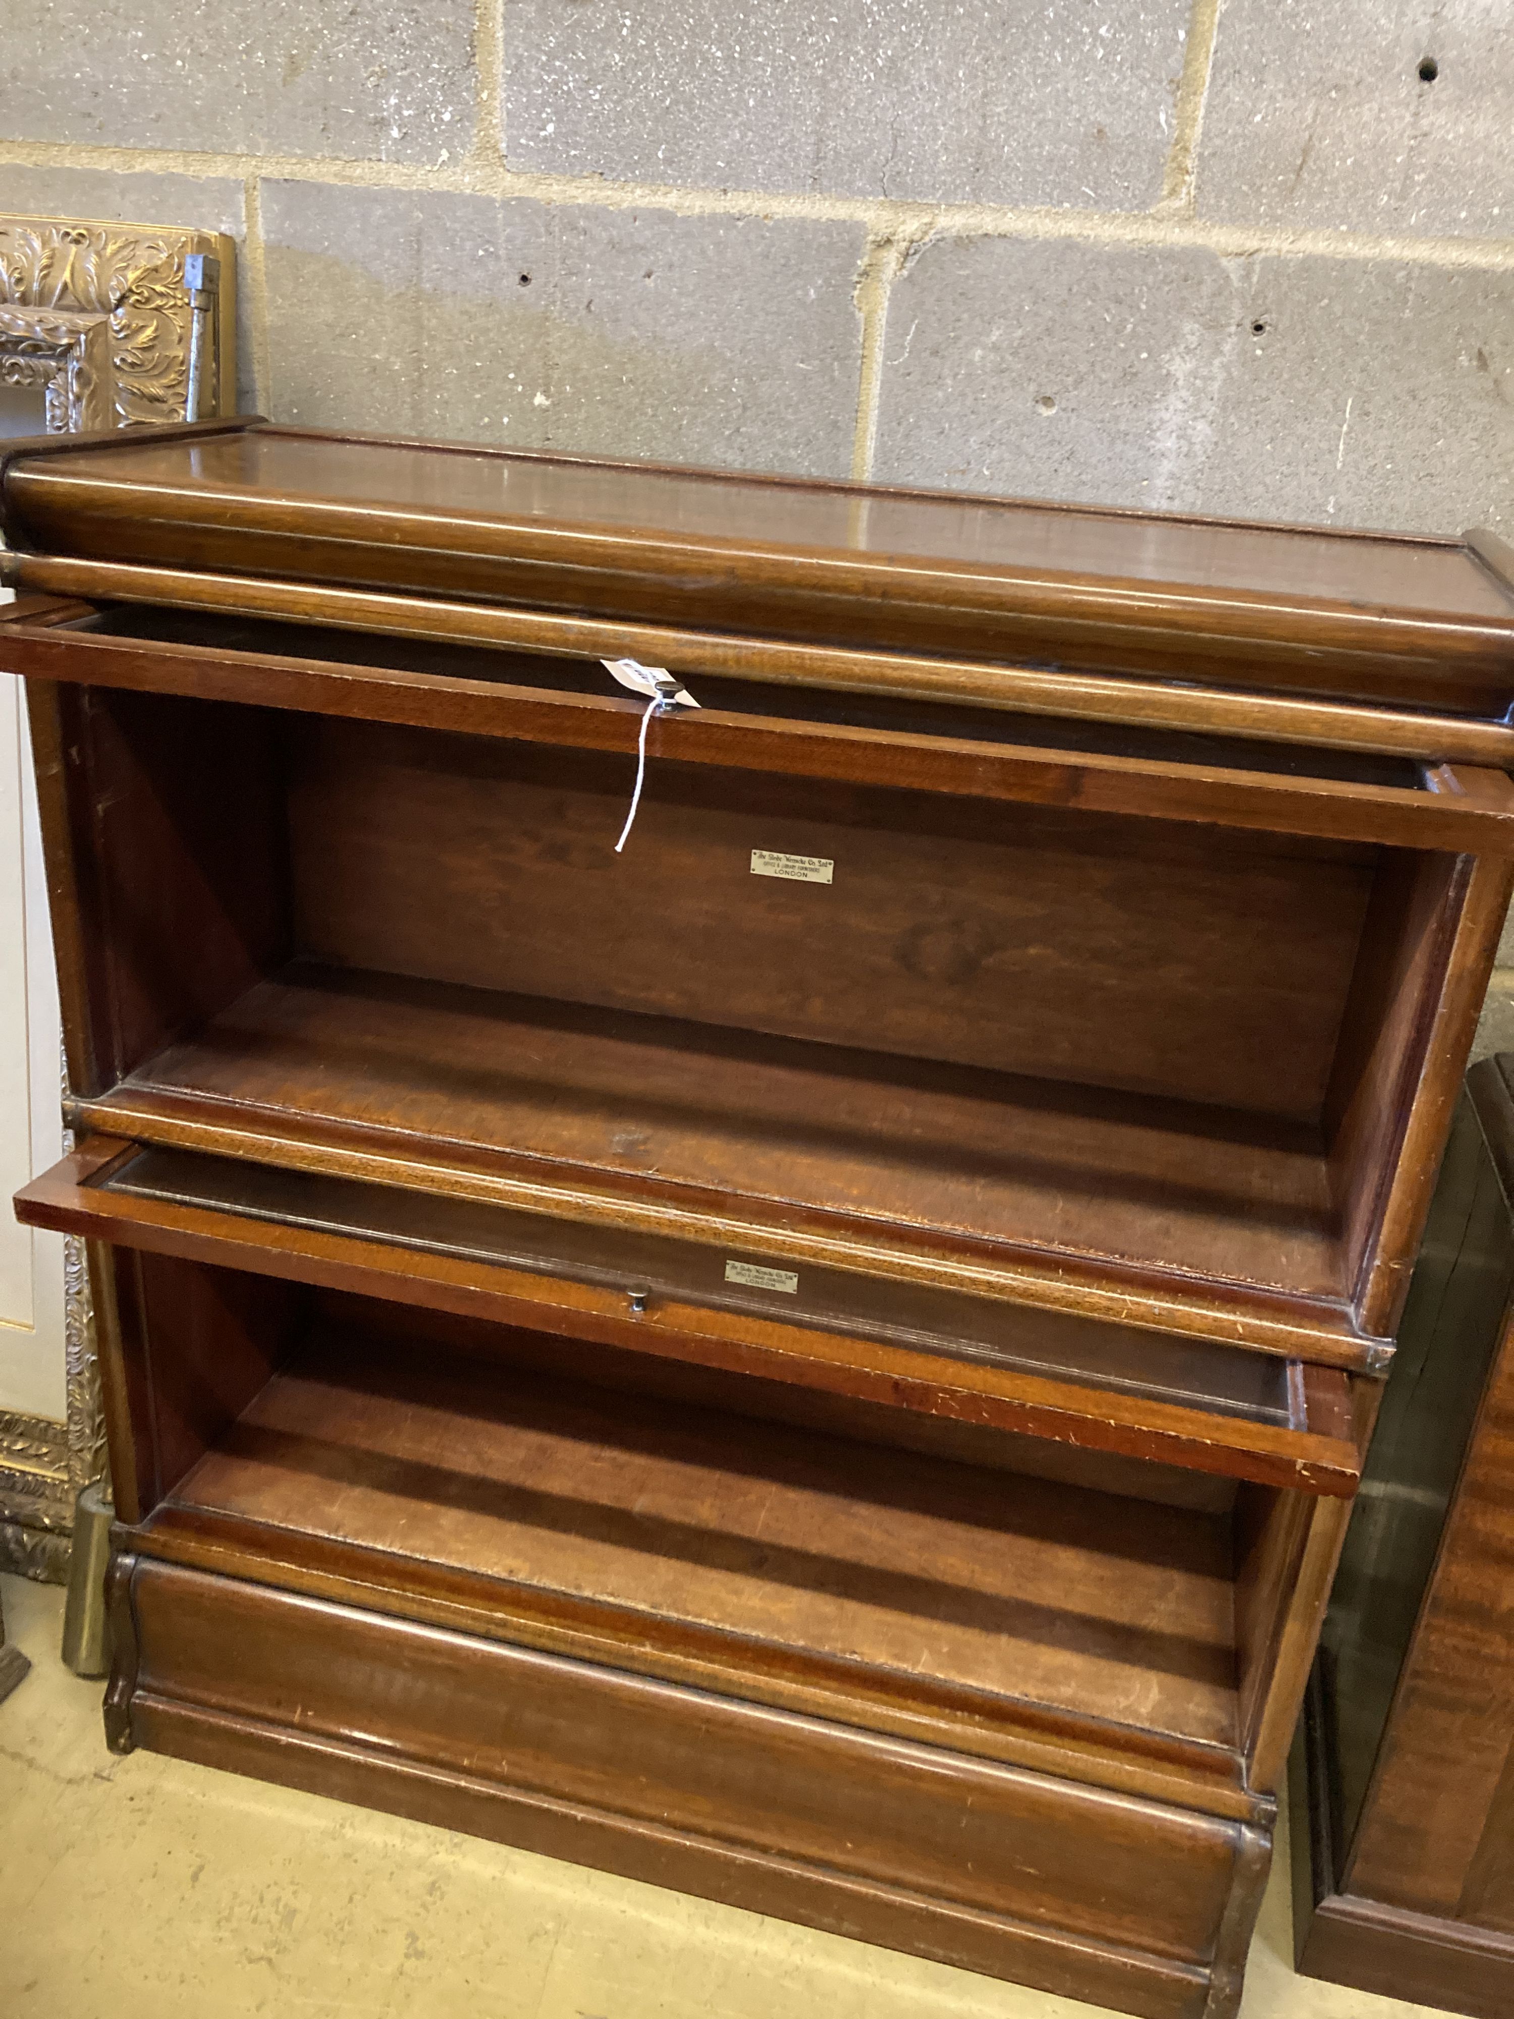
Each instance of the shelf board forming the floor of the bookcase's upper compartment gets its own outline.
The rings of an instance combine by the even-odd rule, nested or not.
[[[1344,1300],[1302,1125],[400,975],[293,963],[77,1112],[715,1244],[735,1215],[759,1254],[975,1288],[1042,1250]]]

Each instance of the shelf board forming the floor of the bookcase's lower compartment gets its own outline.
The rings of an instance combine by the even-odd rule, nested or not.
[[[1137,1508],[331,1326],[149,1518],[176,1543],[991,1757],[1124,1726],[1151,1771],[1239,1785],[1223,1502]]]

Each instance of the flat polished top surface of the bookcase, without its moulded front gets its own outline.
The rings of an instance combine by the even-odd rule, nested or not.
[[[511,533],[618,535],[642,565],[700,555],[741,565],[781,555],[890,571],[959,567],[1005,579],[1094,577],[1290,604],[1342,602],[1486,618],[1514,634],[1514,596],[1459,541],[1096,511],[1011,499],[882,491],[803,479],[589,462],[258,426],[202,440],[143,438],[101,458],[50,456],[40,479],[67,495],[131,499],[184,525],[234,529],[277,511],[355,511],[373,543],[416,515],[432,543],[509,551]]]

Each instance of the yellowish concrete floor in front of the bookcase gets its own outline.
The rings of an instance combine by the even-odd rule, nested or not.
[[[0,1579],[2,2019],[1096,2019],[1094,2007],[137,1752]],[[1292,1975],[1280,1843],[1243,2019],[1411,2019]]]

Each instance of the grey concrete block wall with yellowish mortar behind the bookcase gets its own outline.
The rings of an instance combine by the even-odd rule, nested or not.
[[[6,26],[0,210],[232,232],[275,418],[1514,537],[1498,0]]]

